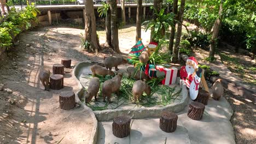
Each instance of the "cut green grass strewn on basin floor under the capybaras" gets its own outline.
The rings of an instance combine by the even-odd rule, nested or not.
[[[82,78],[90,79],[91,77],[92,75],[85,75]],[[106,80],[112,79],[113,76],[107,75],[106,77],[103,77],[103,76],[97,75],[97,77],[100,79],[100,82],[101,82],[100,92],[98,95],[102,95],[101,88],[102,88],[103,82]],[[162,79],[154,78],[147,81],[147,84],[151,88],[151,94],[147,95],[146,93],[143,93],[141,96],[141,99],[136,102],[135,107],[136,106],[152,107],[156,105],[166,106],[168,104],[171,104],[172,101],[178,99],[179,93],[181,93],[181,89],[180,91],[175,91],[175,88],[171,88],[164,85],[158,85],[161,82],[161,80]],[[121,87],[119,90],[119,95],[112,94],[112,96],[115,97],[117,101],[113,101],[113,103],[111,104],[103,103],[102,102],[103,98],[98,97],[97,98],[98,101],[92,100],[92,102],[94,102],[95,105],[91,105],[91,104],[86,104],[86,105],[89,106],[93,111],[100,111],[100,110],[108,109],[108,106],[110,106],[111,109],[117,109],[120,105],[123,105],[124,103],[131,104],[132,101],[134,100],[132,96],[132,87],[135,81],[136,81],[135,79],[131,79],[126,76],[123,76],[123,79],[121,81]],[[161,98],[158,99],[157,97],[153,97],[153,94],[155,93],[158,95],[161,95]],[[122,103],[120,103],[120,101],[122,101]],[[104,104],[104,106],[99,106],[99,104]],[[113,106],[113,104],[115,106]]]

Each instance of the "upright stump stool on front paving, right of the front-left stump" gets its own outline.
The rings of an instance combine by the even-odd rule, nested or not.
[[[177,128],[178,116],[173,112],[162,112],[159,127],[166,133],[172,133]]]

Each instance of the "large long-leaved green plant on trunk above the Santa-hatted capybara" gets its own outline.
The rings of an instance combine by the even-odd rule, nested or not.
[[[152,7],[150,7],[152,8]],[[154,8],[153,8],[154,9]],[[168,13],[165,14],[165,8],[161,9],[158,13],[156,9],[154,9],[155,19],[144,21],[142,25],[146,26],[146,31],[148,29],[152,29],[152,37],[154,41],[159,41],[165,37],[165,31],[168,31],[170,26],[173,26],[173,17],[174,14]]]

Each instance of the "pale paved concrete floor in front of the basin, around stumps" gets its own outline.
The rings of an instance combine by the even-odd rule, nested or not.
[[[131,135],[123,139],[112,134],[112,121],[99,122],[97,143],[235,143],[229,121],[232,109],[225,98],[210,99],[200,121],[187,116],[188,106],[178,114],[177,129],[165,133],[159,128],[159,118],[135,119]],[[131,121],[132,122],[132,121]]]

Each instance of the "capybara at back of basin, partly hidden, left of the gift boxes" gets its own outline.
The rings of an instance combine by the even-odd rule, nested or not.
[[[136,72],[136,69],[134,67],[128,67],[126,70],[127,70],[128,76],[134,78],[135,80],[150,79],[149,76],[144,73],[144,71],[137,70]]]

